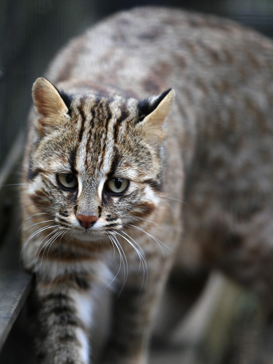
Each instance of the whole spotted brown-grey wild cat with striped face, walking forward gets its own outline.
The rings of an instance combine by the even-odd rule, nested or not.
[[[39,363],[147,363],[175,261],[216,267],[273,306],[273,46],[178,9],[120,12],[72,40],[32,89],[22,258]]]

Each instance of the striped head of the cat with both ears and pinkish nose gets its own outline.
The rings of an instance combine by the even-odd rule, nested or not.
[[[139,101],[59,92],[39,78],[28,194],[54,223],[92,240],[146,219],[162,190],[174,91]]]

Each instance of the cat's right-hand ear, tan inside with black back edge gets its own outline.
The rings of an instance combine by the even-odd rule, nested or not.
[[[141,128],[141,133],[147,142],[158,144],[165,137],[163,124],[169,114],[174,96],[175,92],[170,88],[159,96],[139,103],[139,110],[144,118],[137,127]]]

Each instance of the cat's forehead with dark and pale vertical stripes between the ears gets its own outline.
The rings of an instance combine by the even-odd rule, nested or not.
[[[115,159],[118,136],[124,134],[128,120],[135,115],[134,102],[90,96],[75,99],[71,106],[78,144],[76,170],[93,178],[107,175]]]

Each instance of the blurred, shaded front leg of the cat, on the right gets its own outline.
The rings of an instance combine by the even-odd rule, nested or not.
[[[104,364],[146,364],[153,319],[161,298],[169,263],[158,257],[157,269],[148,265],[147,281],[138,273],[128,278],[114,300],[111,336],[104,351]],[[153,267],[154,268],[154,267]]]

